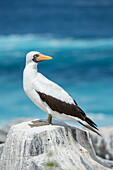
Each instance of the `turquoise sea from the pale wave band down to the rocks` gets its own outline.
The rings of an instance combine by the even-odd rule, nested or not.
[[[113,38],[55,38],[51,34],[0,36],[0,124],[17,117],[45,118],[23,91],[25,55],[53,57],[39,71],[61,85],[99,126],[113,125]]]

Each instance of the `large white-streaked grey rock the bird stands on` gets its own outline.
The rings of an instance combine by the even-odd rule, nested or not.
[[[107,170],[112,161],[95,155],[89,134],[61,124],[11,127],[0,160],[1,170]],[[108,168],[109,167],[109,168]]]

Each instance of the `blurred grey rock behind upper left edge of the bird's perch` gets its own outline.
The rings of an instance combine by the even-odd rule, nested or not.
[[[18,118],[15,119],[11,122],[9,122],[7,125],[0,127],[0,144],[4,143],[6,141],[7,138],[7,134],[9,132],[9,129],[11,128],[11,126],[15,125],[15,124],[19,124],[21,122],[25,122],[25,121],[29,121],[32,120],[33,118]]]

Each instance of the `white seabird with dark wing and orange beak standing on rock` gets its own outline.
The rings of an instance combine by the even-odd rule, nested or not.
[[[26,55],[23,87],[27,96],[40,109],[49,114],[47,122],[33,121],[34,126],[51,124],[52,116],[62,120],[77,121],[97,133],[97,125],[89,119],[75,100],[59,85],[37,72],[37,64],[52,57],[31,51]]]

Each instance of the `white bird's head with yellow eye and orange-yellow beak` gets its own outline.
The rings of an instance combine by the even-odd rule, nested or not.
[[[41,54],[38,51],[31,51],[26,55],[26,64],[31,62],[39,63],[40,61],[50,60],[50,59],[52,59],[52,57]]]

